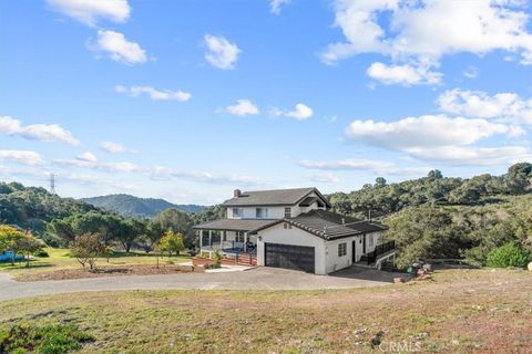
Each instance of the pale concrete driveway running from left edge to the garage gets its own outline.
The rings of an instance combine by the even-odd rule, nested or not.
[[[331,275],[299,271],[255,268],[225,273],[182,273],[164,275],[106,277],[75,280],[18,282],[0,273],[0,301],[80,291],[136,289],[226,289],[226,290],[319,290],[379,287],[392,282],[397,274],[349,268]]]

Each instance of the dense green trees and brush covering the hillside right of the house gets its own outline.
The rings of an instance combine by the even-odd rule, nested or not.
[[[424,178],[375,185],[334,194],[334,209],[365,218],[385,215],[387,237],[400,250],[398,266],[419,259],[461,259],[484,266],[490,251],[516,242],[532,251],[532,165],[511,166],[503,176],[446,178],[433,170]]]

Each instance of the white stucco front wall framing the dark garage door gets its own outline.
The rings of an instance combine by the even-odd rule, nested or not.
[[[327,274],[325,240],[307,231],[293,227],[285,229],[284,222],[259,231],[257,240],[257,261],[258,266],[265,266],[264,243],[282,243],[314,247],[315,252],[315,272],[316,274]]]

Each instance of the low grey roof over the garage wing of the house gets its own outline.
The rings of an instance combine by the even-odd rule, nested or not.
[[[334,240],[367,232],[378,232],[388,229],[378,222],[358,220],[352,217],[326,210],[311,210],[300,214],[295,218],[285,218],[272,222],[270,225],[265,225],[254,231],[256,232],[267,229],[279,222],[288,222],[326,240]]]

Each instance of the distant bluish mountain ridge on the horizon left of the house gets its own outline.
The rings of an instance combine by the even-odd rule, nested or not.
[[[130,195],[109,195],[84,198],[83,201],[95,207],[112,210],[123,216],[154,217],[158,212],[175,208],[187,212],[200,212],[206,207],[197,205],[175,205],[164,199],[139,198]]]

